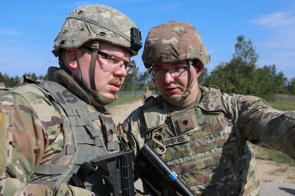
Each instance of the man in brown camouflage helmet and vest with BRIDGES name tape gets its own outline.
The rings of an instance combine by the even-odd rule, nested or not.
[[[122,149],[132,149],[134,157],[148,143],[195,195],[259,195],[249,141],[295,159],[294,111],[282,113],[258,97],[198,85],[210,56],[191,24],[153,27],[142,60],[160,95],[120,126]],[[178,195],[144,165],[134,166],[146,193]]]

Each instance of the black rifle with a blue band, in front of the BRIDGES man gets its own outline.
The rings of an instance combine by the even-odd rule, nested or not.
[[[136,155],[134,167],[138,176],[147,187],[156,195],[162,195],[163,188],[153,182],[166,180],[175,190],[183,196],[194,196],[191,190],[179,179],[177,174],[145,143]],[[152,174],[152,175],[151,175]]]

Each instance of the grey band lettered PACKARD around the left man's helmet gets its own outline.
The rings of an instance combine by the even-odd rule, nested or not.
[[[118,29],[116,29],[116,28],[114,28],[112,26],[109,26],[107,24],[104,24],[104,23],[102,23],[100,21],[96,21],[94,19],[91,19],[91,18],[88,18],[88,17],[85,17],[85,16],[81,16],[81,15],[78,15],[78,14],[70,14],[70,15],[68,15],[67,19],[68,18],[74,18],[74,19],[82,20],[82,21],[85,21],[85,22],[100,26],[100,27],[102,27],[104,29],[107,29],[109,31],[112,31],[112,32],[118,34],[119,36],[125,38],[127,41],[131,42],[131,38],[129,36],[127,36],[126,34],[124,34],[122,31],[119,31]]]

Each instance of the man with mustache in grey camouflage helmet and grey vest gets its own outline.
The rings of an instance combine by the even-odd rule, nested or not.
[[[102,170],[83,185],[73,174],[120,150],[112,114],[103,106],[114,102],[135,69],[130,57],[140,40],[134,22],[112,7],[85,5],[68,15],[54,39],[60,68],[50,67],[48,80],[23,76],[0,91],[1,194],[110,194]]]

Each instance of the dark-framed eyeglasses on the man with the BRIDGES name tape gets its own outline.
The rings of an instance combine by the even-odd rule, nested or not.
[[[185,75],[185,70],[188,67],[189,65],[185,67],[175,67],[175,68],[166,69],[166,70],[154,70],[154,71],[152,71],[153,68],[150,68],[150,71],[148,73],[150,73],[150,75],[152,76],[154,80],[160,80],[165,78],[165,71],[168,71],[173,78],[179,78]]]

